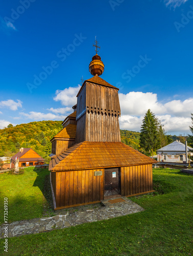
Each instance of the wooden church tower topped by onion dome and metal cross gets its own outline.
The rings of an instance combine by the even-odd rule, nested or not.
[[[120,142],[119,89],[99,77],[104,71],[104,64],[97,54],[99,47],[96,40],[95,43],[96,55],[89,65],[93,77],[84,81],[77,95],[75,143]]]

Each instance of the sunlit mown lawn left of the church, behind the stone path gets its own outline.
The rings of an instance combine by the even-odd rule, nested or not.
[[[45,196],[48,168],[28,167],[24,174],[0,174],[0,224],[4,223],[4,198],[8,198],[8,221],[39,218],[49,210]]]

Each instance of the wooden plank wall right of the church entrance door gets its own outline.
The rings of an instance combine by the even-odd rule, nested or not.
[[[153,190],[152,164],[121,167],[121,195]]]

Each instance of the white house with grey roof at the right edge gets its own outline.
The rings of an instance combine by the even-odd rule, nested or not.
[[[189,151],[193,150],[190,146],[187,146],[187,152],[190,156],[193,153]],[[180,141],[174,141],[167,146],[164,146],[157,150],[158,162],[173,162],[173,163],[185,163],[186,162],[186,150],[185,144]]]

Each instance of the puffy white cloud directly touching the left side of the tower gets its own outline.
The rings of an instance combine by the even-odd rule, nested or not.
[[[54,97],[55,101],[61,101],[62,105],[65,106],[73,106],[77,102],[76,95],[78,94],[78,91],[80,90],[80,85],[78,84],[77,87],[69,87],[65,90],[57,90],[56,96]]]

